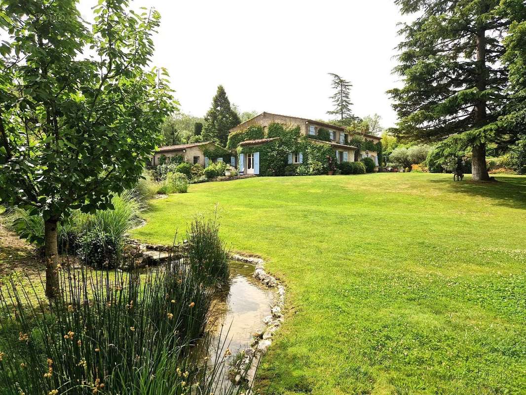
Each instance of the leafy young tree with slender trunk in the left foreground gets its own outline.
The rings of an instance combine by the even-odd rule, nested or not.
[[[159,14],[99,2],[90,31],[76,3],[0,3],[0,202],[43,216],[49,298],[59,292],[57,223],[71,209],[112,208],[173,111],[167,80],[145,70]]]

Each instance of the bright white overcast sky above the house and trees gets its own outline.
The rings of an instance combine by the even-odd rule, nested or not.
[[[91,20],[95,0],[81,0]],[[180,109],[202,116],[217,85],[241,111],[325,118],[330,77],[351,81],[353,111],[392,126],[401,16],[392,0],[321,2],[132,0],[161,14],[154,64],[170,73]]]

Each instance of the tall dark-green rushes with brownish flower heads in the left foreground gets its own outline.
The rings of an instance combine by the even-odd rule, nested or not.
[[[15,278],[0,288],[0,393],[244,392],[221,377],[228,351],[205,357],[212,291],[188,265],[139,274],[72,264],[59,276],[50,304]]]

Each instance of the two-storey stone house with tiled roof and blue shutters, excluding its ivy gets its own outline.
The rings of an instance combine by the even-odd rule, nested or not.
[[[336,159],[339,163],[341,162],[354,162],[355,153],[358,150],[358,147],[352,146],[349,144],[349,141],[352,139],[352,136],[349,134],[345,127],[336,126],[328,124],[325,122],[310,120],[307,118],[298,118],[294,116],[286,116],[279,114],[272,114],[263,112],[250,120],[243,122],[232,129],[229,130],[229,133],[234,133],[247,129],[249,126],[261,126],[266,135],[267,127],[270,124],[279,123],[287,125],[287,127],[299,127],[300,135],[306,136],[307,139],[314,144],[325,144],[330,146],[333,151],[335,151]],[[319,133],[320,130],[325,130],[328,132],[328,141],[320,140]],[[373,144],[378,143],[381,140],[381,137],[360,133],[361,139],[366,141],[371,141]],[[273,139],[256,139],[248,140],[239,143],[239,146],[257,146],[265,144]],[[302,161],[301,152],[293,152],[289,154],[288,163],[289,164],[301,164]],[[375,161],[376,167],[375,171],[378,171],[378,157],[377,152],[372,150],[359,151],[358,156],[360,159],[369,156]],[[239,170],[244,174],[259,174],[259,152],[252,152],[249,154],[240,154],[239,155]]]

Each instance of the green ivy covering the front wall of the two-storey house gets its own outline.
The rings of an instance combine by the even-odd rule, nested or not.
[[[238,148],[238,153],[243,154],[259,152],[259,175],[325,174],[330,163],[336,163],[335,151],[329,145],[312,143],[307,137],[300,137],[299,126],[288,128],[272,123],[265,137],[280,137],[280,140]],[[288,163],[289,153],[294,152],[303,154],[302,164]]]

